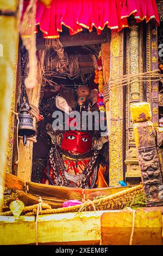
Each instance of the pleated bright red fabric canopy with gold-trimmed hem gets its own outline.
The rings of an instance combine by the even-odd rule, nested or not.
[[[23,13],[29,1],[24,1]],[[159,26],[159,15],[155,0],[52,0],[46,8],[37,2],[36,24],[45,38],[58,38],[61,25],[69,28],[70,34],[76,34],[87,28],[96,27],[100,34],[103,28],[121,31],[128,27],[127,17],[134,15],[137,22],[155,19]]]

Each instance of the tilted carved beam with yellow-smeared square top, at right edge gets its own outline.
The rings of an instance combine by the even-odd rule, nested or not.
[[[163,205],[163,182],[161,164],[153,123],[151,107],[147,102],[133,103],[130,106],[134,123],[135,142],[141,178],[146,194],[147,206]]]

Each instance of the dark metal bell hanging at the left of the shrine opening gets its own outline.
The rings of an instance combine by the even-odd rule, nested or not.
[[[18,113],[18,136],[23,137],[24,146],[27,144],[27,137],[33,137],[36,134],[33,126],[33,117],[29,114],[30,106],[29,103],[24,100],[19,105]]]

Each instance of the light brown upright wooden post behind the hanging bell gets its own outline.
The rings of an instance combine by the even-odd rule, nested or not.
[[[43,62],[45,58],[45,50],[39,50],[37,53],[37,83],[33,89],[27,89],[29,103],[39,106],[41,81],[43,74]],[[33,125],[35,127],[36,120],[34,118]],[[23,140],[20,139],[19,146],[20,160],[18,162],[17,176],[23,180],[30,181],[32,173],[32,156],[33,156],[33,142],[27,139],[27,145],[24,147]]]

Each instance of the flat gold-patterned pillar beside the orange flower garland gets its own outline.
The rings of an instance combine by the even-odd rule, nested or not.
[[[123,75],[123,32],[111,32],[110,77]],[[109,92],[109,186],[123,180],[123,87]]]

